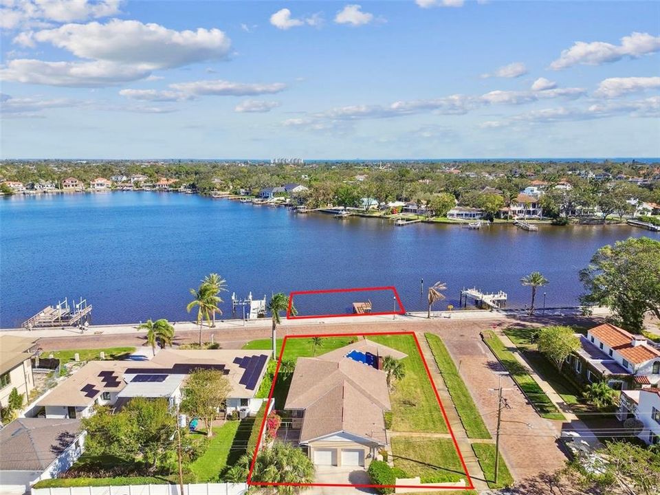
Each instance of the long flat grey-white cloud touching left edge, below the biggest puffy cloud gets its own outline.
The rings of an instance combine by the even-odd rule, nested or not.
[[[44,62],[17,58],[0,67],[0,78],[17,83],[106,87],[145,78],[148,69],[114,62]]]

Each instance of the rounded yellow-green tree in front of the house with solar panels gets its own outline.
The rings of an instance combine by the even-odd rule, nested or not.
[[[221,371],[197,369],[190,373],[182,390],[181,410],[201,418],[206,427],[206,436],[211,437],[212,422],[231,391],[232,386]]]

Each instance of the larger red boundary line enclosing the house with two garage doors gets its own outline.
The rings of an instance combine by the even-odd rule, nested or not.
[[[426,376],[428,376],[428,381],[430,382],[430,385],[433,388],[433,392],[435,394],[435,398],[438,401],[438,405],[440,406],[440,410],[442,412],[442,417],[445,420],[445,423],[447,425],[447,429],[449,430],[449,434],[452,437],[452,442],[454,443],[454,448],[456,449],[456,453],[459,454],[459,459],[461,461],[461,466],[463,467],[463,471],[465,472],[465,476],[467,477],[467,486],[465,487],[459,487],[459,486],[438,486],[438,485],[428,485],[424,487],[420,487],[419,485],[348,485],[348,484],[342,484],[342,483],[272,483],[272,482],[266,482],[266,481],[252,481],[252,471],[254,470],[254,464],[256,463],[256,454],[259,452],[259,445],[261,444],[261,437],[263,435],[263,430],[266,426],[266,417],[268,414],[268,408],[266,408],[263,418],[261,420],[261,428],[259,428],[259,438],[257,439],[256,442],[256,447],[254,448],[254,454],[252,455],[252,463],[250,463],[250,470],[248,471],[248,479],[246,480],[246,483],[248,485],[254,485],[254,486],[298,486],[298,487],[313,487],[313,486],[327,486],[327,487],[353,487],[353,488],[428,488],[432,490],[442,490],[442,489],[447,489],[447,490],[471,490],[474,489],[474,483],[472,482],[472,477],[470,476],[470,472],[467,471],[467,465],[465,465],[465,459],[463,459],[463,454],[461,453],[461,449],[459,449],[459,443],[456,441],[456,437],[454,436],[454,431],[452,430],[452,426],[449,423],[449,418],[447,417],[447,412],[445,412],[445,407],[442,405],[442,401],[440,400],[440,395],[438,394],[438,389],[435,386],[435,382],[433,381],[433,377],[431,376],[431,371],[428,368],[428,364],[426,363],[426,359],[424,358],[424,355],[421,351],[421,346],[419,345],[419,340],[417,340],[417,336],[415,335],[415,332],[412,331],[391,331],[391,332],[368,332],[368,333],[311,333],[307,335],[295,335],[295,336],[285,336],[283,342],[282,342],[282,349],[280,349],[280,355],[277,360],[277,365],[275,368],[275,375],[273,377],[273,383],[270,386],[270,393],[268,394],[268,402],[270,404],[270,401],[273,399],[273,393],[275,391],[275,384],[277,382],[277,375],[280,371],[280,365],[282,364],[282,357],[284,355],[284,349],[287,345],[287,339],[290,338],[310,338],[310,337],[354,337],[354,336],[412,336],[412,338],[415,340],[415,346],[417,347],[417,352],[419,352],[419,356],[421,358],[421,362],[424,365],[424,369],[426,370]]]

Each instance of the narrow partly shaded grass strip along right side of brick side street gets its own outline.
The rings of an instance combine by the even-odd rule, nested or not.
[[[497,356],[498,360],[511,373],[511,378],[520,386],[527,398],[536,407],[539,415],[547,419],[566,419],[555,407],[550,398],[544,393],[538,383],[527,373],[525,366],[516,360],[516,356],[509,351],[503,342],[492,331],[485,331],[485,342]]]

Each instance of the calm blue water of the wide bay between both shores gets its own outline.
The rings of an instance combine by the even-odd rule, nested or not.
[[[408,310],[426,309],[425,285],[444,281],[447,304],[462,287],[504,290],[509,307],[529,303],[520,277],[540,270],[550,281],[547,306],[575,305],[577,272],[595,250],[629,236],[652,236],[627,225],[509,225],[468,230],[455,225],[395,227],[387,221],[337,220],[197,195],[109,192],[0,198],[0,327],[16,327],[58,299],[83,296],[93,322],[189,320],[188,289],[218,272],[230,294],[270,296],[343,287],[394,285]],[[392,296],[296,300],[303,314],[347,311],[371,298],[388,311]],[[539,301],[539,304],[542,304]]]

